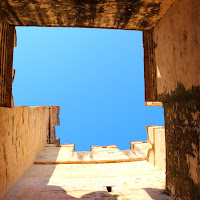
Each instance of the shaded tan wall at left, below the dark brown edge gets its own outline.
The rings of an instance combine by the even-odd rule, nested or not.
[[[0,108],[0,199],[31,166],[48,133],[49,109]]]

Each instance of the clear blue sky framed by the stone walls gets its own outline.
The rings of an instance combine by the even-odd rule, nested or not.
[[[61,143],[145,141],[164,125],[162,107],[145,107],[142,32],[17,27],[15,106],[60,106]]]

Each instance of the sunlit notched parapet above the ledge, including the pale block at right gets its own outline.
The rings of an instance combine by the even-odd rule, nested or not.
[[[165,128],[147,126],[147,141],[132,141],[130,149],[116,145],[91,146],[91,151],[76,151],[75,144],[47,144],[35,164],[97,164],[148,161],[166,171]]]

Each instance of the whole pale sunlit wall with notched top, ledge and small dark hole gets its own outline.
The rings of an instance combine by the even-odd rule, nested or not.
[[[130,142],[131,149],[122,151],[116,145],[75,151],[74,144],[46,144],[5,199],[171,200],[164,193],[165,173],[159,169],[160,162],[165,163],[165,145],[160,142],[164,127],[147,126],[147,134],[148,141]]]

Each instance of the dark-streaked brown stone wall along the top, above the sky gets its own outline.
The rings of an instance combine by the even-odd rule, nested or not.
[[[1,0],[0,18],[11,25],[143,30],[155,25],[174,0]]]

